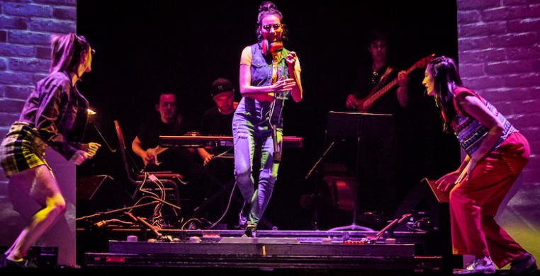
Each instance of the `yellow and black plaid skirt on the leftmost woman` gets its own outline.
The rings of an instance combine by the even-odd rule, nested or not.
[[[47,144],[38,135],[38,129],[28,122],[13,122],[0,145],[0,163],[6,177],[15,173],[45,165]]]

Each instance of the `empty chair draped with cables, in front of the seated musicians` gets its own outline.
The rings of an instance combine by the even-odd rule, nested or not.
[[[118,136],[118,148],[120,149],[120,155],[122,157],[125,176],[128,179],[128,182],[135,187],[135,192],[133,192],[133,200],[137,200],[141,197],[140,193],[144,192],[148,195],[156,195],[156,192],[161,191],[162,203],[173,207],[174,209],[180,209],[180,199],[179,199],[179,185],[185,185],[183,177],[179,173],[173,173],[170,171],[159,171],[159,172],[147,172],[143,171],[140,173],[133,173],[130,170],[128,165],[127,152],[125,148],[125,141],[122,129],[118,120],[114,121],[116,127],[116,135]],[[174,210],[176,213],[176,210]],[[179,215],[176,213],[176,215]]]

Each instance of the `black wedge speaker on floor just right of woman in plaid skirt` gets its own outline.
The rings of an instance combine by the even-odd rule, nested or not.
[[[77,179],[77,217],[108,212],[135,202],[111,176],[89,176]]]

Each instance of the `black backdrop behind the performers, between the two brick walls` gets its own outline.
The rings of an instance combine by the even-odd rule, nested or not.
[[[406,69],[432,53],[457,59],[455,1],[349,2],[274,1],[289,30],[285,47],[300,59],[304,90],[304,99],[288,101],[284,110],[284,134],[303,137],[303,148],[284,152],[264,215],[279,229],[312,227],[313,210],[300,207],[299,199],[313,192],[316,181],[305,176],[325,149],[328,111],[343,110],[356,67],[371,62],[365,42],[369,29],[390,31],[390,59],[398,67]],[[154,103],[162,91],[179,95],[179,110],[193,130],[214,105],[214,79],[230,79],[240,99],[240,53],[257,40],[259,1],[111,3],[78,1],[77,33],[96,49],[93,71],[83,76],[79,90],[98,113],[91,122],[113,149],[118,147],[113,120],[119,120],[130,148],[140,122],[157,112]],[[441,134],[439,115],[420,86],[422,77],[423,69],[410,75],[407,113],[413,139],[410,167],[403,168],[410,171],[410,187],[459,164],[459,147]],[[102,141],[94,127],[87,134]],[[122,182],[118,152],[103,148],[78,168],[78,175],[107,174]]]

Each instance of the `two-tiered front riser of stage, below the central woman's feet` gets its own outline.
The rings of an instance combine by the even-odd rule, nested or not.
[[[291,238],[227,242],[109,241],[108,253],[86,253],[87,267],[440,270],[441,258],[415,257],[413,244],[305,244]]]

